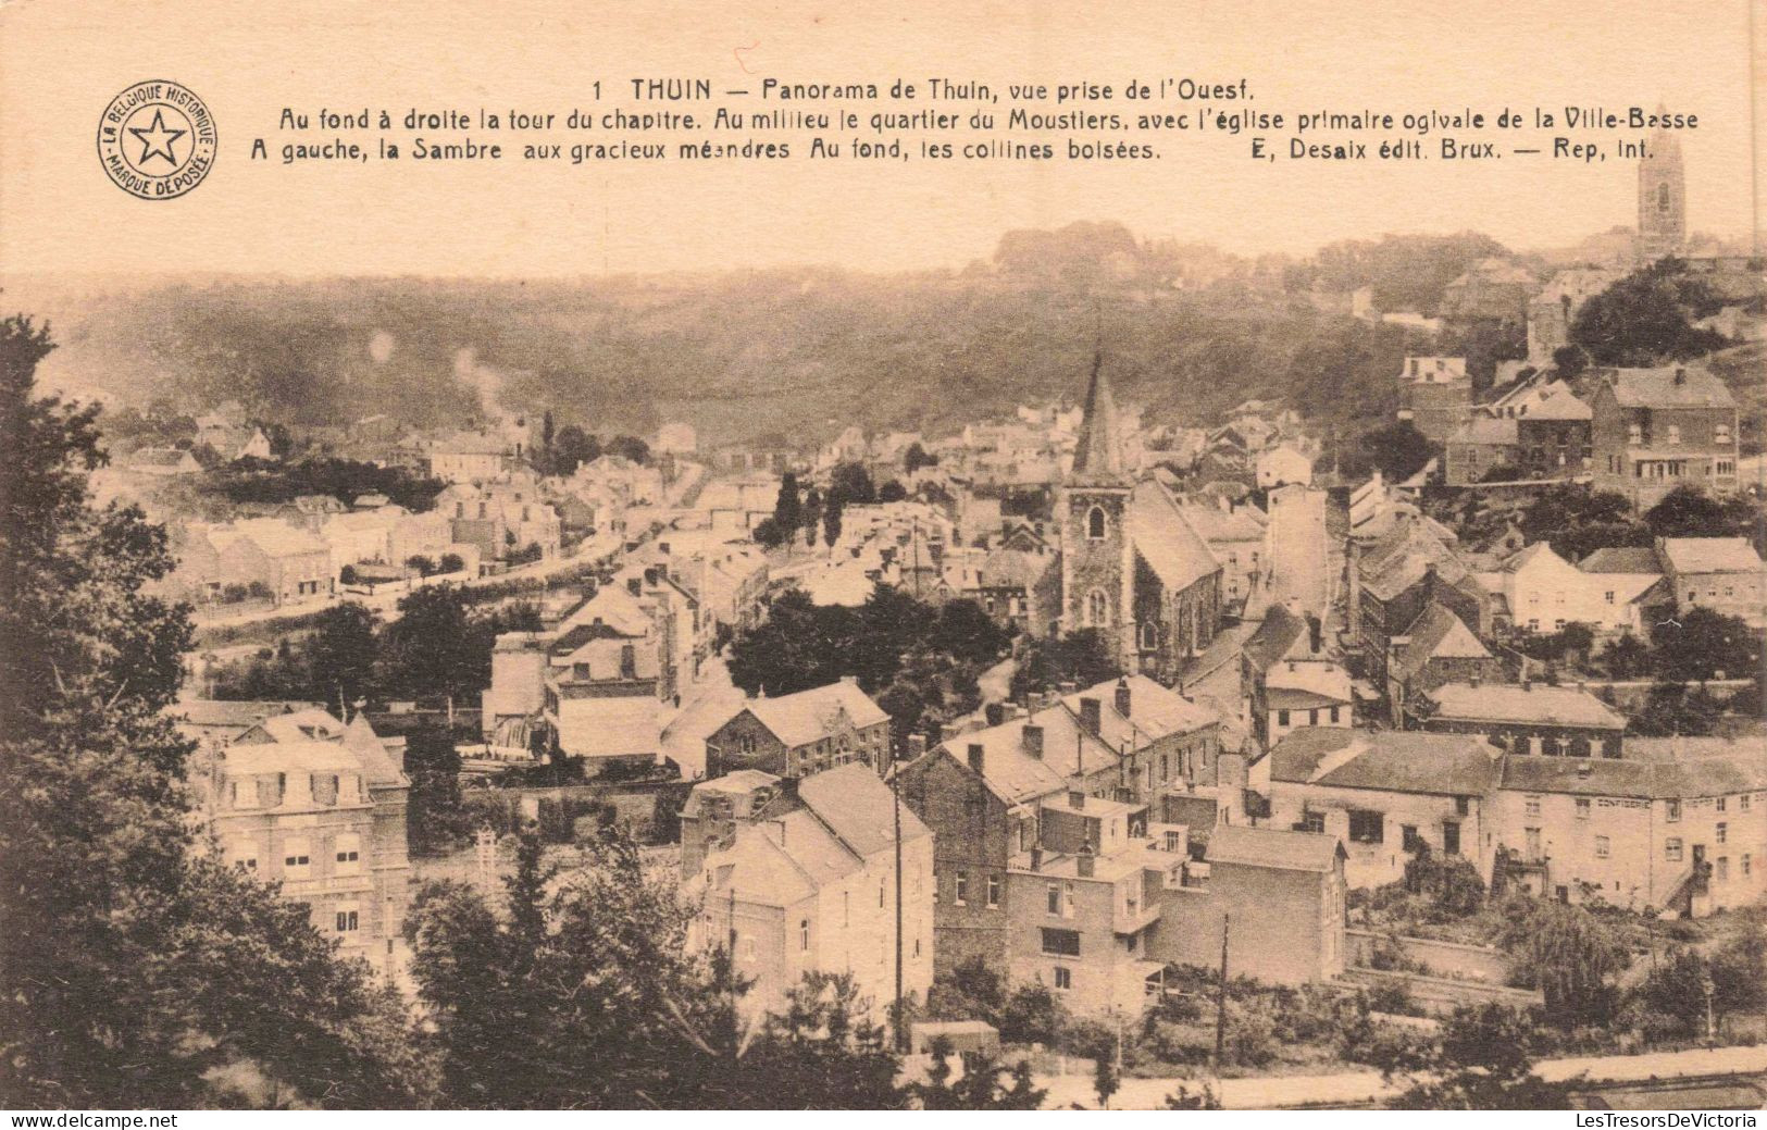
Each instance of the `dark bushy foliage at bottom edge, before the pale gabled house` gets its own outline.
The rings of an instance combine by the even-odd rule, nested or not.
[[[410,920],[445,1105],[472,1109],[899,1109],[896,1056],[846,976],[811,974],[749,1027],[691,909],[603,828],[569,881],[525,836],[505,911],[436,884]]]

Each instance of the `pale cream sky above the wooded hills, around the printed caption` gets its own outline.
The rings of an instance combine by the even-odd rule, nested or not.
[[[283,106],[564,113],[592,104],[592,80],[610,92],[634,76],[703,76],[717,87],[755,87],[767,76],[880,85],[949,76],[998,90],[1014,81],[1244,76],[1255,108],[1288,113],[1536,103],[1624,111],[1661,101],[1700,115],[1682,138],[1689,230],[1744,235],[1755,226],[1749,0],[959,7],[23,0],[0,9],[0,271],[901,271],[961,267],[986,258],[1005,230],[1076,219],[1115,219],[1136,235],[1237,253],[1461,228],[1541,248],[1634,221],[1633,168],[1617,159],[1267,164],[1242,157],[1239,145],[1193,138],[1161,161],[1041,166],[284,168],[247,159],[254,136],[279,147]],[[739,57],[735,48],[747,50]],[[124,195],[94,154],[108,99],[145,78],[193,88],[219,127],[214,172],[175,202]],[[894,106],[857,110],[878,108]],[[352,138],[373,145],[373,134]]]

